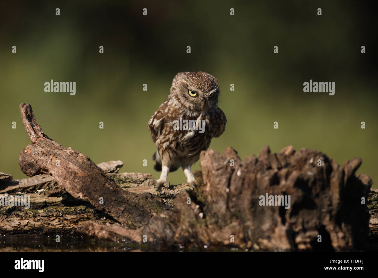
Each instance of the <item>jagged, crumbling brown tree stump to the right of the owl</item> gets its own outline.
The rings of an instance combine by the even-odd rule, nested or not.
[[[318,160],[322,166],[317,166]],[[372,181],[366,175],[355,176],[359,158],[346,162],[343,169],[318,151],[295,152],[290,146],[271,154],[266,146],[258,158],[253,155],[245,162],[232,148],[223,154],[202,152],[200,161],[197,189],[174,199],[178,227],[169,230],[171,223],[161,224],[153,217],[144,227],[145,234],[173,242],[231,243],[254,250],[364,248],[369,213],[361,198],[367,199]],[[291,196],[290,208],[260,205],[266,194]]]

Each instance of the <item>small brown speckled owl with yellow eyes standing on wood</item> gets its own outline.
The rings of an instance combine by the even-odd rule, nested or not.
[[[154,169],[162,171],[157,180],[158,188],[163,184],[169,185],[169,171],[180,166],[187,183],[195,185],[192,164],[198,160],[201,151],[209,148],[211,138],[220,136],[225,130],[227,120],[218,107],[218,95],[217,79],[206,72],[181,72],[173,79],[168,99],[148,123],[157,149],[153,155]],[[204,129],[175,130],[175,120],[180,121],[180,118],[200,121],[204,123]]]

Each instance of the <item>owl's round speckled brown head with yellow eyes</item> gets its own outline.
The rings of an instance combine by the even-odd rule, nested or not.
[[[168,99],[192,112],[218,106],[218,80],[203,71],[180,72],[172,81]]]

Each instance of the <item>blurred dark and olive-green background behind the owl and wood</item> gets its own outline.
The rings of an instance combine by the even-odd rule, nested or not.
[[[26,177],[17,160],[30,143],[20,103],[33,106],[37,123],[62,146],[81,151],[95,163],[122,160],[121,172],[151,172],[158,178],[147,123],[180,71],[206,71],[219,81],[218,105],[228,124],[225,133],[212,140],[210,147],[218,152],[232,146],[244,158],[258,154],[265,144],[273,152],[292,144],[297,150],[318,149],[341,165],[361,157],[358,173],[378,178],[377,22],[367,4],[298,0],[0,5],[0,171],[15,179]],[[230,16],[230,8],[235,16]],[[318,8],[322,16],[317,16]],[[275,45],[278,54],[273,53]],[[75,81],[76,95],[45,93],[44,82],[50,79]],[[335,82],[335,95],[304,93],[303,82],[310,79]],[[147,91],[142,90],[144,83]],[[235,91],[230,91],[231,83]],[[17,129],[12,129],[13,121]],[[99,129],[100,121],[104,129]],[[279,129],[273,129],[274,121]],[[361,129],[361,121],[366,129]],[[180,169],[169,180],[177,184],[185,177]]]

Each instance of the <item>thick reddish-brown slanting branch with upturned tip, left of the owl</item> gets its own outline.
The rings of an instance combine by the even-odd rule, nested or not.
[[[19,157],[26,175],[52,175],[73,197],[90,202],[129,227],[145,225],[153,215],[169,210],[158,200],[122,190],[89,157],[47,137],[36,123],[30,104],[20,104],[20,111],[31,141]]]

